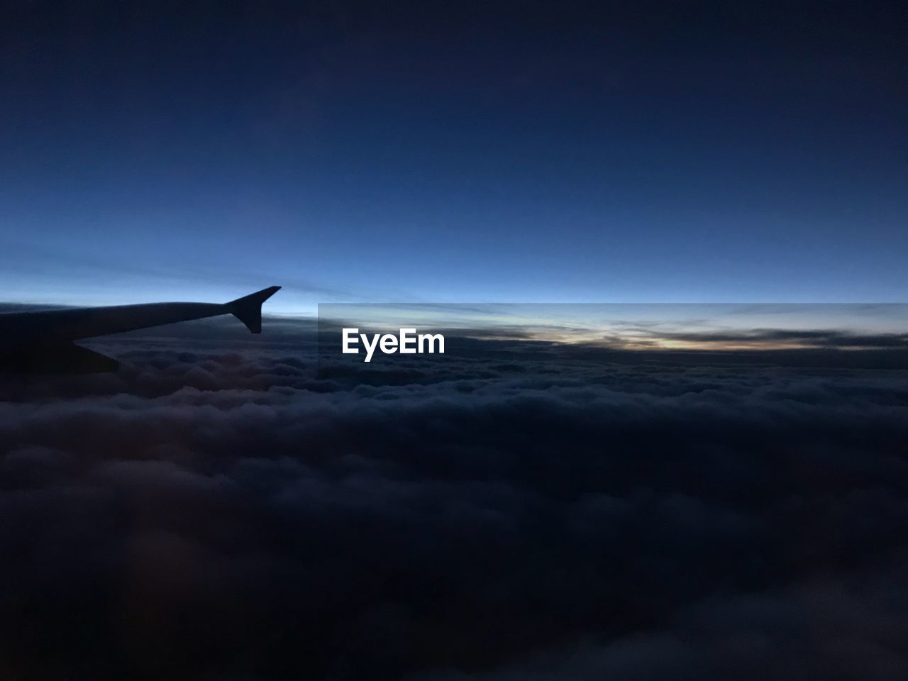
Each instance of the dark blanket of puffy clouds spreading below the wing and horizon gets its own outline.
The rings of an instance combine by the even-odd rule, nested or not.
[[[0,389],[5,676],[904,668],[902,371],[225,333]]]

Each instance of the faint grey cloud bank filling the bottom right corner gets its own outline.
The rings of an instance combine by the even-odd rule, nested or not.
[[[902,633],[908,593],[899,572],[893,565],[849,580],[817,579],[755,595],[709,597],[656,631],[610,642],[587,639],[491,672],[434,670],[411,678],[894,681],[908,674]]]

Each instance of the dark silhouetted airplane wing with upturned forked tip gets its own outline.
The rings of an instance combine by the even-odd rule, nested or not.
[[[116,360],[74,344],[109,333],[232,314],[252,333],[262,332],[262,303],[281,289],[270,286],[235,301],[153,302],[0,314],[0,370],[91,373],[115,370]]]

